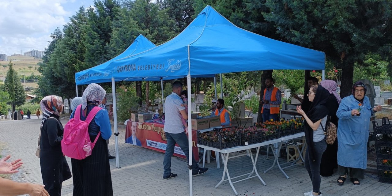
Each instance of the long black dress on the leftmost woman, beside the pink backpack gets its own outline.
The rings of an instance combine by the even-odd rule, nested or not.
[[[54,118],[48,118],[41,130],[41,174],[49,195],[61,196],[62,182],[71,178],[71,171],[61,151],[64,128],[58,116],[51,117]]]

